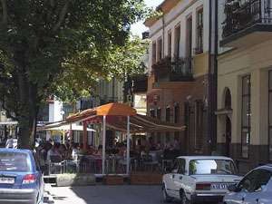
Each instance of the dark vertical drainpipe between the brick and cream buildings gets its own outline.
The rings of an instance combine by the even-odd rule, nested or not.
[[[214,10],[212,10],[213,8]],[[217,110],[217,92],[218,92],[217,57],[218,57],[218,0],[209,0],[208,140],[210,153],[212,151],[216,151],[217,146],[217,117],[215,115],[215,112]]]

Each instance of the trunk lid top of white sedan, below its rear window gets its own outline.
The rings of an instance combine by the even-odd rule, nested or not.
[[[237,175],[191,175],[196,182],[235,182],[238,183],[242,177]]]

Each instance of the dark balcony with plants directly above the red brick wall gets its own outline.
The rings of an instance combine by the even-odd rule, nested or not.
[[[193,80],[192,58],[166,57],[152,65],[155,83],[190,82]]]

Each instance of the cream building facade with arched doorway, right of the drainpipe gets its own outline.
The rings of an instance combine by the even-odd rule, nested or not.
[[[219,0],[218,151],[241,172],[272,160],[272,1]]]

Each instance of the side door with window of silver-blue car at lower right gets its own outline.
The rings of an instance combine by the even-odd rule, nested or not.
[[[272,172],[270,170],[259,169],[254,174],[254,181],[248,191],[245,194],[245,204],[257,204],[262,203],[262,194],[267,187],[268,181],[271,179]]]

